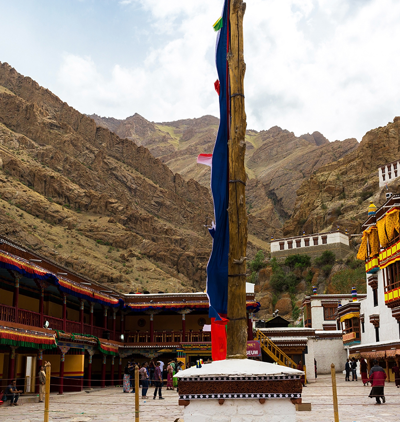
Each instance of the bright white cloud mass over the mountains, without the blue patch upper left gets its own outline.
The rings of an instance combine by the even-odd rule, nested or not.
[[[56,92],[84,113],[155,121],[218,115],[213,82],[222,1],[126,0],[150,16],[156,43],[133,66],[66,53]],[[244,19],[248,128],[273,125],[330,140],[356,137],[400,114],[400,2],[253,0]],[[128,46],[129,47],[129,46]]]

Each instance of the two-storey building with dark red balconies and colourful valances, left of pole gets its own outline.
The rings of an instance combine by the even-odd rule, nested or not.
[[[249,340],[259,303],[247,293]],[[185,363],[211,357],[205,293],[122,294],[0,238],[0,390],[38,391],[51,363],[51,390],[121,384],[129,359]]]

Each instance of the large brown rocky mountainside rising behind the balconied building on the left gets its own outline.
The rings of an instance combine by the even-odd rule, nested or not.
[[[204,287],[208,190],[6,63],[0,165],[2,235],[124,292]]]

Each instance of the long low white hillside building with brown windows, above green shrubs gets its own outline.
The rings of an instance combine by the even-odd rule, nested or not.
[[[271,240],[271,258],[283,259],[293,254],[315,258],[323,251],[332,251],[337,259],[350,252],[349,235],[341,230]]]

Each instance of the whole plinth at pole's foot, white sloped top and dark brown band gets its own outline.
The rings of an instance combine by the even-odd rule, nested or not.
[[[294,422],[304,373],[251,359],[226,359],[180,371],[185,422]]]

